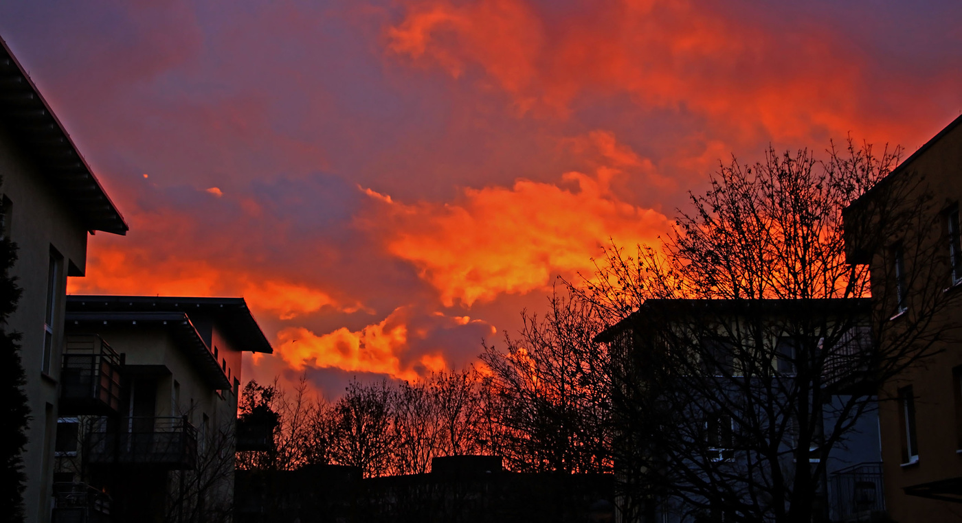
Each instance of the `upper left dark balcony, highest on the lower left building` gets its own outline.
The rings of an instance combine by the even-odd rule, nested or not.
[[[120,406],[117,353],[100,336],[67,336],[61,369],[61,415],[107,415]]]

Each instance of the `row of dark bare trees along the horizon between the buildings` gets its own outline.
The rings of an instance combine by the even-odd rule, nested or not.
[[[598,391],[577,385],[577,362],[549,322],[524,320],[525,341],[541,344],[507,338],[503,350],[485,345],[477,367],[415,382],[354,381],[334,401],[312,394],[304,378],[290,390],[248,383],[241,417],[275,420],[274,447],[238,453],[239,468],[331,463],[378,477],[426,473],[438,457],[496,455],[518,472],[610,471]]]

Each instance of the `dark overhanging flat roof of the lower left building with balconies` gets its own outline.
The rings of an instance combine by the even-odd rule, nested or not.
[[[243,298],[70,294],[66,300],[68,312],[200,312],[212,316],[238,350],[274,352]]]

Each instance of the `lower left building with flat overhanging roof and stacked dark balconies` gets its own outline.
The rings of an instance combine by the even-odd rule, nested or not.
[[[230,521],[243,298],[66,302],[54,521]]]

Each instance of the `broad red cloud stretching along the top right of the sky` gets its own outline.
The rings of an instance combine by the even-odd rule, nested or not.
[[[454,77],[483,71],[521,112],[564,115],[578,96],[627,93],[646,108],[707,116],[729,139],[776,141],[844,137],[853,126],[885,141],[895,122],[924,121],[918,110],[866,112],[864,93],[877,88],[866,58],[827,24],[786,32],[678,0],[597,2],[550,18],[525,0],[406,5],[386,33],[393,56]]]

